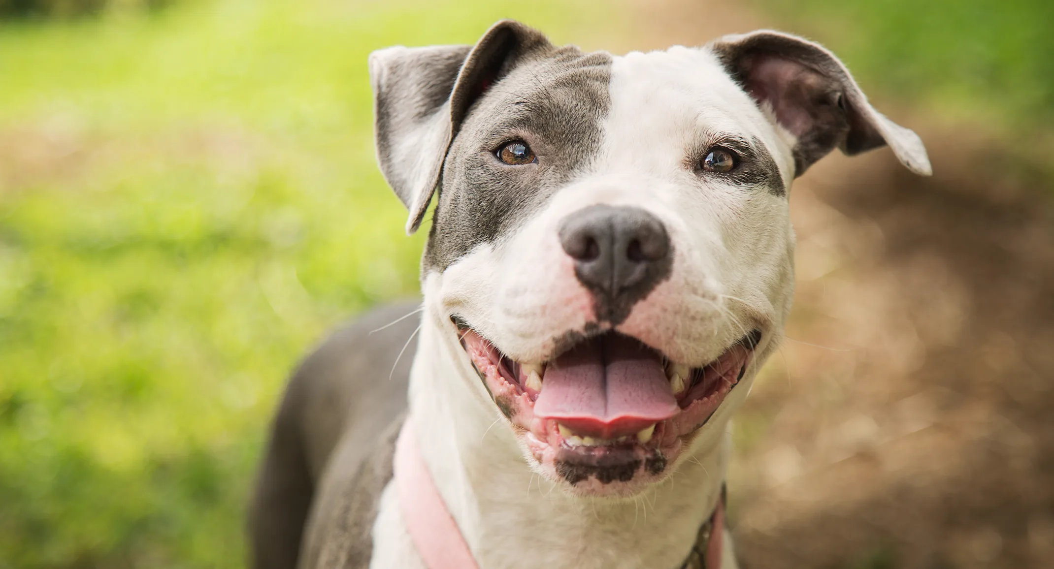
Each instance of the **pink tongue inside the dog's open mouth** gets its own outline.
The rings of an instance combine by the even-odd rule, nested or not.
[[[579,434],[618,438],[680,411],[660,355],[640,341],[605,334],[549,362],[534,416]]]

